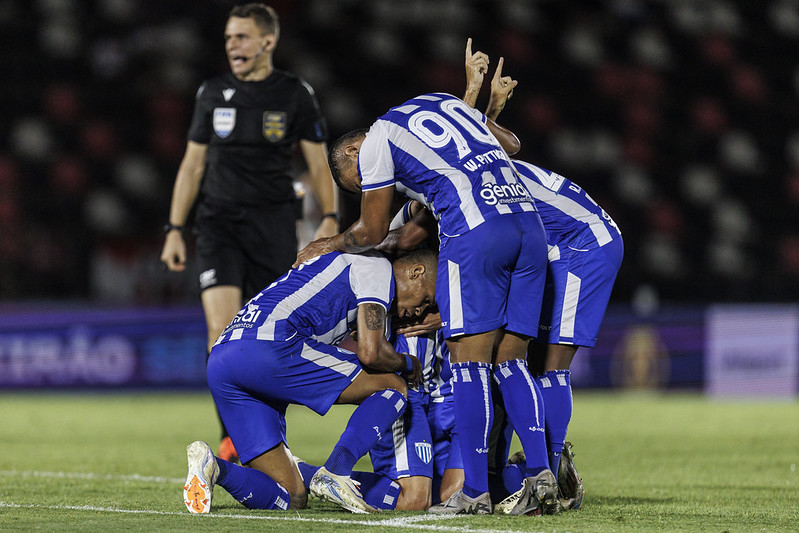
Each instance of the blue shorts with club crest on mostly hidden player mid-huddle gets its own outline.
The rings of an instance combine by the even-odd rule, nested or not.
[[[408,390],[408,407],[391,432],[369,451],[375,473],[391,479],[433,477],[433,439],[427,425],[429,395]]]

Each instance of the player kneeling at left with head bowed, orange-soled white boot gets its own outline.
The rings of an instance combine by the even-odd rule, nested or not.
[[[324,415],[335,403],[360,404],[311,494],[352,512],[374,512],[350,475],[406,407],[406,384],[421,366],[386,340],[386,311],[421,314],[433,302],[433,275],[410,279],[378,253],[330,253],[306,261],[239,311],[211,351],[208,385],[244,468],[213,456],[201,441],[189,445],[183,489],[191,513],[211,509],[220,485],[251,509],[301,509],[307,492],[286,444],[286,407],[300,404]],[[357,324],[356,355],[337,345]],[[370,372],[364,372],[364,368]],[[375,373],[377,372],[377,373]],[[383,373],[381,373],[383,372]]]

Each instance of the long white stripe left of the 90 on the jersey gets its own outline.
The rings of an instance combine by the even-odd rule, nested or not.
[[[377,124],[384,125],[387,129],[388,139],[391,144],[416,159],[425,168],[436,170],[441,176],[449,180],[458,193],[458,208],[463,214],[469,229],[474,229],[485,221],[472,195],[472,182],[469,181],[469,177],[466,174],[453,168],[435,150],[424,144],[402,126],[387,120],[378,120],[375,125]],[[401,182],[397,181],[395,186],[400,193],[414,197],[408,193],[414,193],[415,191],[409,190]],[[418,199],[418,196],[417,194],[414,199]],[[425,200],[424,203],[427,204],[427,201]]]

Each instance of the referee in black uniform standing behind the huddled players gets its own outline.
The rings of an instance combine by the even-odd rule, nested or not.
[[[293,149],[299,144],[323,218],[317,236],[338,231],[313,89],[275,69],[278,16],[264,4],[236,6],[225,26],[230,73],[197,91],[188,144],[172,193],[161,260],[186,269],[183,229],[202,189],[194,233],[208,350],[244,301],[286,272],[297,253]],[[222,427],[220,456],[235,460]]]

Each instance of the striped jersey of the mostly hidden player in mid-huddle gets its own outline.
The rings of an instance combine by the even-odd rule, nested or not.
[[[430,394],[433,401],[452,394],[452,371],[449,368],[449,350],[442,330],[418,337],[394,336],[394,349],[399,353],[416,356],[422,363],[421,392]]]

